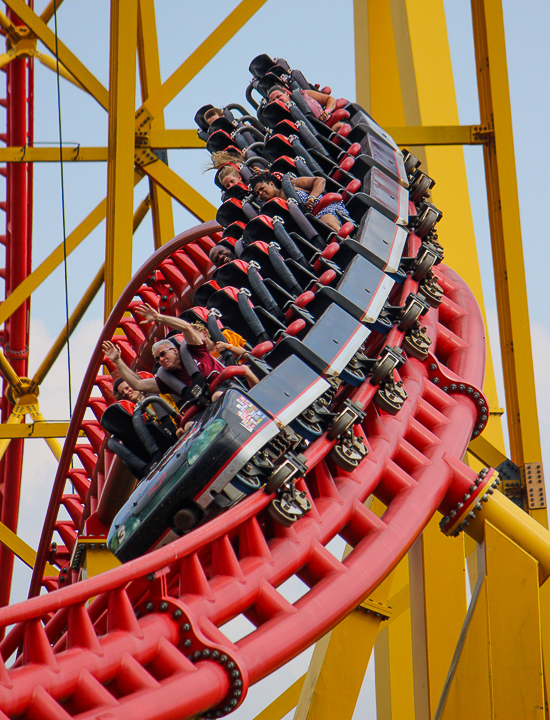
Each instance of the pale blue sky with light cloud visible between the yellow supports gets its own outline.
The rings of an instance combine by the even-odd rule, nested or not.
[[[414,4],[409,3],[410,6]],[[429,2],[417,4],[419,12],[427,11]],[[35,0],[38,13],[45,5],[46,0]],[[199,15],[196,4],[167,0],[158,2],[156,10],[157,28],[160,29],[162,38],[159,47],[162,78],[166,79],[236,5],[236,0],[209,0],[208,4],[204,5],[208,11]],[[544,160],[547,154],[545,138],[549,137],[550,101],[544,79],[550,77],[550,5],[542,0],[521,4],[504,0],[503,5],[531,335],[545,460],[550,447],[550,380],[545,367],[550,353],[550,319],[546,296],[546,268],[550,258],[544,211],[544,197],[547,194]],[[189,12],[190,7],[193,8],[192,13]],[[465,0],[447,0],[445,12],[460,122],[476,124],[479,122],[479,110],[469,4]],[[53,20],[50,27],[54,27]],[[93,3],[65,0],[59,9],[59,36],[106,87],[108,29],[107,0],[94,0]],[[328,0],[268,0],[252,20],[170,103],[165,112],[166,127],[194,127],[195,111],[205,103],[244,104],[244,90],[249,80],[248,64],[253,57],[263,52],[272,57],[286,58],[292,67],[300,68],[310,81],[330,85],[335,96],[354,99],[352,0],[338,0],[337,3]],[[83,146],[106,145],[107,116],[104,110],[89,96],[62,81],[59,118],[55,75],[38,62],[35,67],[36,144],[57,144],[61,125],[62,138],[66,144],[77,142]],[[466,147],[464,153],[489,331],[494,344],[498,342],[498,335],[482,151],[480,147]],[[203,174],[203,166],[207,160],[205,150],[169,152],[170,167],[211,203],[218,205],[219,191],[212,182],[212,176]],[[63,235],[59,165],[37,163],[34,172],[33,267],[36,267],[62,242]],[[147,191],[146,181],[142,181],[135,193],[136,207]],[[106,164],[64,165],[63,195],[68,232],[104,198],[105,192]],[[176,233],[196,224],[186,210],[177,203],[173,206]],[[444,238],[442,242],[444,244]],[[151,220],[147,217],[134,236],[134,270],[142,264],[152,248]],[[105,224],[102,223],[69,256],[68,295],[71,309],[99,269],[104,249]],[[59,268],[32,296],[31,375],[63,327],[64,307],[63,271]],[[101,295],[92,304],[71,339],[73,400],[101,331],[102,316]],[[498,358],[496,346],[493,357]],[[497,379],[501,378],[498,362],[496,374]],[[502,407],[504,397],[501,379],[499,384]],[[41,389],[40,406],[46,418],[68,419],[67,387],[67,356],[64,354]],[[28,443],[24,461],[19,533],[33,547],[38,544],[55,467],[55,460],[45,443],[38,440]],[[27,569],[16,562],[12,595],[14,601],[26,596],[28,580]],[[289,598],[296,592],[295,587],[289,588]],[[240,631],[242,627],[237,623],[232,632],[238,634]],[[268,683],[253,689],[249,701],[234,717],[239,720],[253,718],[269,698],[275,698],[284,687],[305,671],[307,659],[307,656],[298,658]],[[374,717],[372,672],[371,667],[354,716],[355,720]]]

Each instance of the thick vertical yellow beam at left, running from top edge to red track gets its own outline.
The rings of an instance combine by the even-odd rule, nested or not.
[[[105,319],[132,277],[138,0],[111,0]]]

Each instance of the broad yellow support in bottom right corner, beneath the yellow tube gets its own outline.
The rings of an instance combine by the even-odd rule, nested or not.
[[[435,720],[544,720],[537,562],[490,523]]]

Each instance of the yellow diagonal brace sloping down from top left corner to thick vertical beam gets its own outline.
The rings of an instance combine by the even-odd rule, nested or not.
[[[55,35],[50,28],[36,15],[24,0],[5,0],[6,5],[13,10],[21,22],[41,40],[48,50],[56,54]],[[109,93],[92,75],[92,73],[73,55],[73,53],[61,42],[57,41],[59,60],[74,75],[78,82],[94,97],[105,110],[109,107]]]

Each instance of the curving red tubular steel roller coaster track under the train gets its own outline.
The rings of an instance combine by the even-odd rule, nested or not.
[[[20,650],[12,667],[0,667],[2,717],[220,717],[242,702],[250,684],[356,607],[437,510],[448,515],[464,494],[481,496],[487,489],[490,473],[480,481],[459,460],[483,426],[483,322],[464,282],[439,265],[443,300],[423,321],[432,352],[425,362],[409,358],[400,369],[407,402],[391,416],[372,402],[374,386],[365,382],[353,390],[350,397],[366,409],[358,432],[369,454],[348,473],[329,458],[335,441],[323,436],[312,443],[305,452],[308,473],[300,481],[313,505],[310,513],[283,528],[265,512],[271,497],[258,492],[170,545],[71,583],[71,557],[84,518],[88,531],[92,523],[95,535],[102,530],[94,512],[105,483],[104,466],[97,463],[103,431],[89,417],[99,417],[106,402],[100,394],[104,376],[98,375],[101,342],[117,333],[132,361],[146,338],[128,311],[138,297],[158,302],[168,287],[189,303],[212,272],[207,251],[218,230],[215,223],[202,225],[152,256],[121,296],[96,346],[55,479],[32,593],[38,595],[41,586],[57,588],[56,579],[43,577],[48,560],[68,586],[0,610],[0,627],[14,625],[0,645],[4,661]],[[419,240],[411,235],[408,243],[414,255]],[[416,289],[409,276],[401,302]],[[403,339],[395,327],[384,340],[375,335],[372,347]],[[72,468],[73,459],[82,467]],[[67,481],[75,492],[65,494]],[[387,507],[382,517],[364,504],[371,494]],[[61,519],[61,508],[70,520]],[[54,532],[64,543],[55,551]],[[352,547],[342,561],[326,549],[336,535]],[[293,575],[309,589],[291,604],[277,588]],[[239,615],[255,629],[232,643],[219,628]]]

